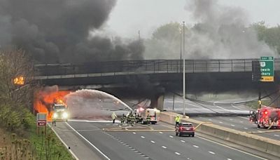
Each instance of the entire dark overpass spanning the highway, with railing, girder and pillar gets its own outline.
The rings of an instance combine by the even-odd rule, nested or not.
[[[188,93],[256,88],[256,84],[252,83],[251,74],[253,60],[257,59],[186,60]],[[132,91],[133,94],[144,90],[144,95],[151,98],[153,106],[162,106],[165,90],[181,88],[183,76],[181,60],[45,64],[35,65],[34,68],[35,79],[45,85],[58,85],[62,90],[125,88],[122,93]],[[275,81],[262,83],[262,88],[272,90],[278,84],[280,59],[274,60],[274,69]]]

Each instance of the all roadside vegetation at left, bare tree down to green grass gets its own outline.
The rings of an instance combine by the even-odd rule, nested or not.
[[[0,159],[72,159],[50,128],[36,132],[32,77],[25,51],[0,51]]]

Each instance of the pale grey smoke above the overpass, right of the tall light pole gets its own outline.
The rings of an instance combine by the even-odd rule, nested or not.
[[[188,58],[276,56],[248,27],[248,16],[242,8],[220,6],[218,0],[191,0],[186,10],[199,21],[186,35]]]

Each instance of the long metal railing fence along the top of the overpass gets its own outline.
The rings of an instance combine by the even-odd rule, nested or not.
[[[186,60],[187,73],[200,72],[251,72],[252,60]],[[48,64],[35,65],[36,76],[94,74],[94,73],[181,73],[182,60],[123,60],[109,62],[91,62],[83,65]],[[274,69],[280,70],[280,59],[274,60]]]

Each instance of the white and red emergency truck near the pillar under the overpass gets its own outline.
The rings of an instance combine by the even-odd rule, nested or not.
[[[139,107],[134,112],[136,113],[136,117],[139,119],[139,123],[157,124],[157,122],[160,121],[160,110],[156,108],[144,109],[143,107]]]

